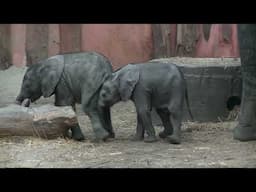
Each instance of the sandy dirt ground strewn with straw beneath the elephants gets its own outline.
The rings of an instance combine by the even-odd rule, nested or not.
[[[0,71],[0,107],[11,103],[19,91],[25,69]],[[51,102],[41,99],[37,104]],[[1,168],[254,168],[256,141],[233,140],[237,121],[184,122],[182,143],[172,145],[130,141],[135,133],[136,112],[132,102],[118,103],[112,110],[116,138],[93,143],[90,121],[81,110],[78,118],[86,140],[34,137],[0,138]],[[162,127],[155,126],[156,132]]]

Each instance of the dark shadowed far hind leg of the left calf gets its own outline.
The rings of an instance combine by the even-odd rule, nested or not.
[[[115,138],[115,133],[113,131],[112,121],[111,121],[111,112],[109,107],[99,108],[101,113],[101,119],[104,126],[104,129],[109,133],[108,138]]]

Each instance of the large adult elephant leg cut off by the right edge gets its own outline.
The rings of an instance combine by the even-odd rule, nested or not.
[[[238,41],[242,68],[243,92],[239,123],[234,139],[256,140],[256,25],[239,24]]]

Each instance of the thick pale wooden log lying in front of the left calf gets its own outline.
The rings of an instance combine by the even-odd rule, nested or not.
[[[0,108],[0,137],[36,136],[54,139],[66,136],[68,129],[78,123],[69,106],[42,105],[27,108],[16,104]]]

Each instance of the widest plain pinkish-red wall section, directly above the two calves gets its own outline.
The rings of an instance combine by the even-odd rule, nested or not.
[[[152,58],[150,24],[84,24],[81,43],[83,51],[106,55],[114,68]]]

